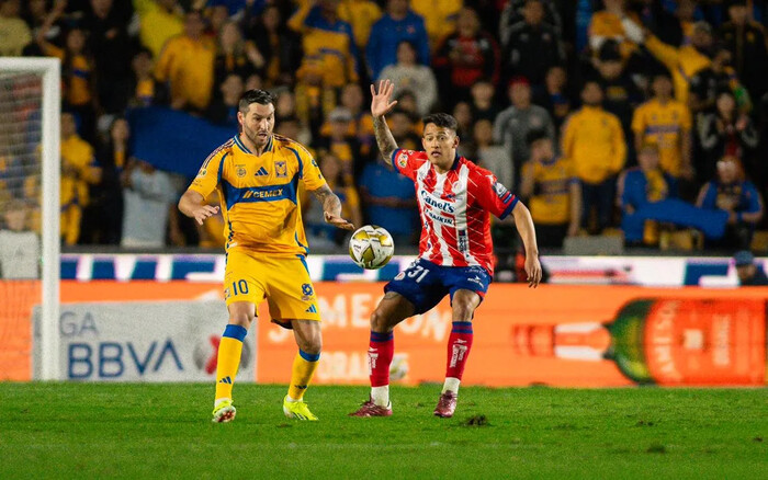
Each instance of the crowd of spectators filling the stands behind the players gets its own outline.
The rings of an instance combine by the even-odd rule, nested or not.
[[[687,232],[737,250],[766,225],[767,22],[763,0],[0,0],[0,55],[61,59],[67,245],[222,245],[222,218],[178,214],[188,179],[133,155],[126,113],[234,133],[253,88],[278,94],[275,132],[312,147],[347,218],[414,245],[411,182],[376,161],[369,84],[386,78],[398,145],[452,113],[461,155],[529,203],[544,248]],[[9,138],[0,199],[29,210]],[[312,198],[304,215],[313,247],[342,243]]]

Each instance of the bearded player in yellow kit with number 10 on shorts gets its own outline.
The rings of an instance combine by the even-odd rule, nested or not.
[[[305,255],[306,237],[296,191],[298,182],[323,205],[325,220],[351,230],[341,203],[317,163],[298,142],[274,135],[270,93],[249,90],[237,114],[240,133],[208,156],[179,201],[179,209],[202,225],[218,207],[205,199],[218,191],[227,238],[224,297],[229,322],[218,347],[213,421],[235,418],[231,389],[242,341],[267,298],[272,321],[292,329],[298,345],[287,396],[286,416],[317,420],[303,401],[320,357],[320,316]]]

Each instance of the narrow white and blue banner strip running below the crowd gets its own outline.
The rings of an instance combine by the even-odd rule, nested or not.
[[[314,282],[381,282],[392,279],[414,259],[395,256],[373,271],[362,271],[347,255],[309,255],[307,264]],[[757,263],[768,267],[766,259]],[[730,258],[543,256],[542,264],[550,273],[550,283],[560,285],[737,285]],[[223,254],[64,254],[61,278],[222,282],[224,266]]]

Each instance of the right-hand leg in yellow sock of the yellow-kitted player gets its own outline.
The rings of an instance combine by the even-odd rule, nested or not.
[[[293,359],[291,385],[283,400],[283,413],[291,419],[317,420],[304,402],[313,375],[317,369],[323,348],[320,322],[316,320],[291,320],[293,334],[298,345],[298,353]]]

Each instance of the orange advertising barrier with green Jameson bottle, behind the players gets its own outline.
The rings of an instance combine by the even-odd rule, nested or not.
[[[38,301],[37,285],[0,282],[0,298],[4,299],[0,306],[0,379],[30,379],[30,315],[32,305]],[[383,295],[382,286],[315,284],[324,318],[324,352],[315,382],[368,382],[369,317]],[[64,302],[221,296],[218,284],[61,283]],[[613,321],[622,306],[642,298],[656,300],[632,304],[628,309],[634,312],[619,316],[613,331],[600,327]],[[765,385],[766,300],[765,288],[542,285],[529,289],[524,285],[495,284],[475,316],[475,340],[464,382],[567,387]],[[267,321],[266,304],[259,310],[263,317],[257,378],[260,382],[285,382],[296,351],[293,334]],[[226,312],[222,311],[217,321],[224,325],[225,320]],[[615,325],[624,325],[623,331]],[[395,329],[393,380],[406,385],[442,381],[450,329],[448,300],[399,324]]]

